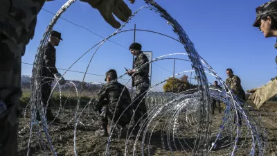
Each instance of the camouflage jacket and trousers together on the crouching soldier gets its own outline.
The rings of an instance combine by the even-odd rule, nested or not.
[[[121,92],[123,94],[120,96]],[[118,105],[116,107],[117,103]],[[95,110],[100,112],[100,124],[107,125],[107,118],[112,119],[113,115],[115,123],[130,103],[131,96],[124,85],[118,83],[116,80],[103,85],[94,103]],[[128,107],[123,115],[120,116],[118,125],[128,124],[131,121],[132,115],[132,107]]]

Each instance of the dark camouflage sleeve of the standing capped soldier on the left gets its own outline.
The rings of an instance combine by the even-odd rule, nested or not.
[[[57,69],[56,69],[56,58],[53,57],[53,51],[51,51],[51,49],[46,48],[45,49],[45,53],[44,53],[44,60],[45,60],[45,65],[47,67],[47,69],[55,74],[57,73]]]

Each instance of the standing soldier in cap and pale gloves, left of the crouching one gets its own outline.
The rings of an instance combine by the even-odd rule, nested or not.
[[[61,33],[57,31],[52,31],[49,37],[49,41],[45,47],[44,60],[42,62],[42,103],[44,104],[44,110],[46,110],[46,118],[48,121],[55,119],[55,116],[53,116],[51,109],[48,108],[50,105],[48,105],[48,107],[46,108],[48,98],[50,97],[52,91],[51,83],[53,81],[53,78],[55,78],[56,80],[60,79],[60,85],[64,85],[64,83],[66,83],[62,75],[57,71],[55,67],[56,49],[54,47],[59,46],[60,40],[62,40]],[[59,119],[56,119],[55,121],[59,121]]]

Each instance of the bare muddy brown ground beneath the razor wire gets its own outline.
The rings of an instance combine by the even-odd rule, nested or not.
[[[249,102],[249,105],[253,105]],[[81,105],[80,107],[84,107]],[[74,108],[74,109],[73,109]],[[52,123],[48,125],[48,132],[51,136],[51,141],[54,146],[57,155],[74,155],[74,124],[75,121],[75,107],[69,107],[69,105],[64,106],[64,109],[61,110],[59,118],[61,121],[59,123]],[[82,109],[78,112],[80,114]],[[57,110],[55,110],[57,112]],[[268,146],[266,150],[266,155],[275,156],[277,154],[277,103],[268,102],[260,110],[253,110],[249,112],[252,116],[261,115],[262,121],[267,130]],[[215,112],[215,115],[212,116],[213,119],[213,130],[216,130],[220,127],[222,123],[222,114]],[[28,151],[28,140],[30,136],[30,129],[26,127],[27,121],[30,118],[28,112],[26,112],[26,119],[20,119],[19,125],[19,155],[26,155]],[[76,151],[78,155],[105,155],[105,149],[107,147],[107,137],[95,137],[94,132],[98,129],[98,124],[96,121],[96,114],[93,113],[91,109],[86,109],[85,112],[82,112],[80,116],[80,122],[78,123],[77,132],[75,133],[76,139]],[[183,121],[182,121],[183,119]],[[146,139],[144,141],[144,155],[189,155],[191,153],[190,147],[193,146],[193,141],[195,137],[190,132],[193,124],[186,126],[187,123],[184,121],[185,117],[180,118],[180,123],[184,123],[179,128],[179,132],[176,136],[170,137],[170,142],[168,143],[168,134],[163,133],[164,124],[162,124],[166,119],[159,121],[159,123],[154,128],[152,136],[150,139],[150,144],[148,146],[148,136],[151,134],[148,131]],[[49,124],[49,123],[48,123]],[[84,124],[84,125],[82,125]],[[24,130],[24,128],[26,128]],[[247,132],[244,127],[244,132]],[[45,139],[44,132],[41,131],[43,136],[42,140],[39,139],[39,133],[37,133],[37,127],[34,125],[34,132],[36,134],[32,135],[30,139],[30,152],[29,155],[43,155],[42,151],[51,151],[49,146],[47,146],[47,139]],[[152,129],[150,129],[152,130]],[[163,135],[162,135],[163,133]],[[161,137],[163,136],[163,137]],[[230,138],[229,138],[230,139]],[[136,143],[136,149],[134,150],[134,155],[142,155],[142,138],[139,138],[139,141],[135,141],[134,138],[129,139],[127,142],[128,155],[133,155],[134,144]],[[174,140],[174,141],[173,141]],[[249,147],[251,147],[251,136],[242,135],[239,139],[239,150],[237,155],[247,155],[249,154]],[[180,144],[181,142],[181,144]],[[125,153],[125,138],[111,138],[111,143],[109,147],[109,155],[124,155]],[[211,155],[224,155],[229,153],[232,150],[228,146],[228,138],[222,140],[222,144],[226,144],[223,148],[217,148],[212,150]],[[169,148],[170,146],[171,149]],[[44,145],[44,146],[39,146]],[[44,150],[45,147],[45,150]],[[171,151],[171,152],[170,152]],[[186,152],[184,152],[186,151]],[[258,155],[258,152],[256,152]],[[49,154],[51,155],[51,154]]]

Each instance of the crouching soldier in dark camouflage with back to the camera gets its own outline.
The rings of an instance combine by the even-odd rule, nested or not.
[[[114,123],[118,121],[119,125],[117,126],[118,137],[122,137],[121,134],[124,135],[127,132],[126,125],[129,124],[133,115],[132,107],[128,107],[131,103],[131,96],[129,90],[118,83],[114,69],[107,71],[105,81],[107,83],[101,87],[94,104],[95,111],[100,113],[101,126],[99,130],[96,130],[95,135],[107,137],[108,118],[112,120],[114,116]]]

